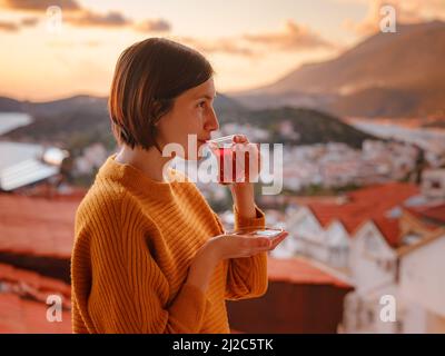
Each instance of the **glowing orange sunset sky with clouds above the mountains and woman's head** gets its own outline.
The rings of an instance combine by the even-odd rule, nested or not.
[[[201,51],[217,71],[218,91],[255,88],[375,32],[387,2],[0,0],[0,96],[106,96],[119,53],[148,37]],[[398,21],[445,19],[445,0],[389,3]],[[62,10],[60,28],[51,22],[57,17],[47,14],[50,6]]]

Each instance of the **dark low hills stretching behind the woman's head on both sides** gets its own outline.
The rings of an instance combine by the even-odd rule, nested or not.
[[[49,102],[20,102],[33,116],[33,122],[1,136],[14,141],[57,144],[75,155],[92,142],[102,142],[112,149],[107,110],[107,99],[76,96]],[[342,122],[336,117],[312,109],[283,107],[265,110],[249,110],[237,100],[217,93],[214,103],[220,125],[227,122],[249,123],[270,132],[270,140],[287,144],[346,142],[360,147],[364,139],[373,138]],[[298,139],[283,135],[280,125],[289,121]]]

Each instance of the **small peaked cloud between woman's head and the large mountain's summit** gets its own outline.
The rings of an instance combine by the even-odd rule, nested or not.
[[[281,31],[244,34],[243,39],[250,43],[286,51],[334,47],[333,43],[323,39],[319,34],[307,27],[298,26],[293,20],[288,20]]]

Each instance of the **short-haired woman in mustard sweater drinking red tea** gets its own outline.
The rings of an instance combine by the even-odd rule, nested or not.
[[[75,333],[229,333],[225,300],[266,293],[266,254],[280,239],[224,235],[196,186],[162,174],[167,144],[188,152],[188,135],[202,145],[218,129],[212,73],[200,53],[167,39],[120,56],[109,111],[121,149],[76,215]],[[253,185],[230,189],[235,228],[263,227]]]

